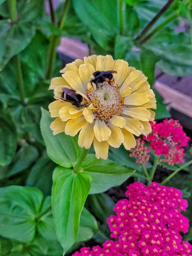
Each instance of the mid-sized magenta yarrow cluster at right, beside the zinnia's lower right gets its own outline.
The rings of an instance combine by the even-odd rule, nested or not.
[[[160,161],[167,162],[170,165],[183,163],[184,149],[188,140],[184,133],[182,125],[178,120],[165,119],[158,124],[151,124],[152,132],[144,139],[150,141],[152,150],[157,155],[164,155]]]

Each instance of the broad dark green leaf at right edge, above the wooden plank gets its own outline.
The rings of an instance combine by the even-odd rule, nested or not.
[[[157,67],[164,73],[177,77],[192,75],[192,44],[187,33],[167,30],[151,38],[145,48],[161,57]]]

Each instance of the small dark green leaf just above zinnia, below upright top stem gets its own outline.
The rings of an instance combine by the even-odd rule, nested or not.
[[[115,59],[125,59],[132,46],[133,41],[131,38],[117,35],[115,39]]]

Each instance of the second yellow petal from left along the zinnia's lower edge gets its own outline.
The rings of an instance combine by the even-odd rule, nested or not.
[[[88,122],[85,120],[84,116],[78,117],[76,119],[71,119],[67,122],[67,125],[65,127],[65,134],[75,136],[78,131],[87,124]]]

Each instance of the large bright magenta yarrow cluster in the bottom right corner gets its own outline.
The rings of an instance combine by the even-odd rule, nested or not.
[[[116,215],[107,219],[111,237],[103,247],[81,248],[72,256],[192,256],[179,231],[188,231],[189,221],[181,214],[187,207],[180,190],[152,182],[130,184],[128,199],[119,200]]]

